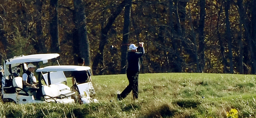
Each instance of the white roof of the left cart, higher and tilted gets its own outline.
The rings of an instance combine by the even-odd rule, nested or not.
[[[52,54],[31,54],[26,56],[20,56],[17,58],[13,58],[10,62],[6,62],[6,65],[9,64],[17,64],[17,63],[26,63],[26,62],[40,62],[40,61],[47,61],[49,59],[53,59],[58,57],[59,54],[52,53]]]

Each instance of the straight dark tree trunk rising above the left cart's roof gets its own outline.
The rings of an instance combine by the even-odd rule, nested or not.
[[[51,34],[51,52],[60,52],[59,29],[58,29],[58,0],[50,0],[50,34]]]

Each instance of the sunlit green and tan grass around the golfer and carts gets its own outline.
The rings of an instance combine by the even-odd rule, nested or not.
[[[238,110],[239,118],[256,117],[256,75],[139,74],[138,101],[132,99],[132,92],[116,100],[129,84],[125,74],[92,76],[92,83],[99,103],[0,103],[0,117],[226,118],[232,108]]]

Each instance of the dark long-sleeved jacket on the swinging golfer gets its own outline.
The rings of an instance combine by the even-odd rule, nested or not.
[[[141,57],[145,53],[145,50],[144,48],[141,48],[141,47],[138,47],[137,50],[138,52],[129,51],[127,54],[127,61],[128,61],[127,70],[129,71],[131,70],[139,71],[140,69],[139,57]]]

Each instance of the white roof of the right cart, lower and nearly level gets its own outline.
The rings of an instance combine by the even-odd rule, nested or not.
[[[60,66],[47,66],[37,69],[36,72],[51,72],[51,71],[83,71],[89,70],[87,66],[74,66],[74,65],[60,65]]]

